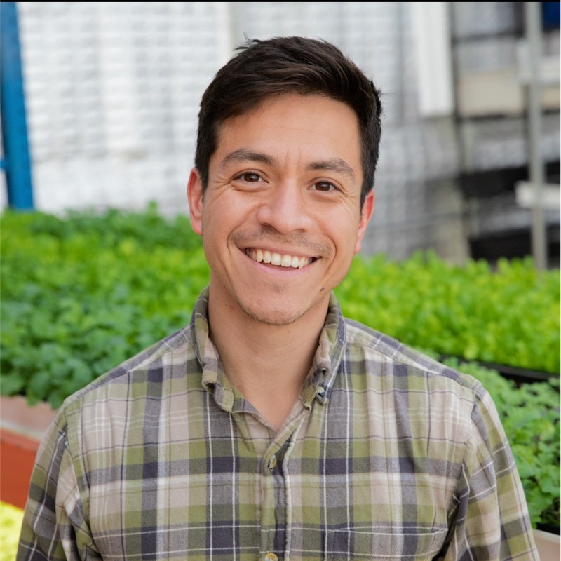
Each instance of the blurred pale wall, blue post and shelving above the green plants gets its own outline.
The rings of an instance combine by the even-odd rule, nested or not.
[[[383,92],[363,252],[559,266],[559,2],[3,2],[1,208],[187,214],[198,102],[248,38],[327,39]]]

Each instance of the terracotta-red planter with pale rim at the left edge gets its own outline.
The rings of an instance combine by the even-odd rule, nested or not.
[[[55,411],[25,398],[0,398],[0,500],[23,508],[39,442]]]

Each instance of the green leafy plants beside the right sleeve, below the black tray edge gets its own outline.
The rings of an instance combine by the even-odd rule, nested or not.
[[[532,525],[559,527],[560,379],[516,386],[477,363],[447,359],[445,364],[471,374],[496,405],[524,487]]]

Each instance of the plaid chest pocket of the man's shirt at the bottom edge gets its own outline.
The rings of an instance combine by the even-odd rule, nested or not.
[[[337,529],[327,536],[330,561],[424,561],[431,560],[442,549],[444,530],[407,534],[384,534],[364,530]]]

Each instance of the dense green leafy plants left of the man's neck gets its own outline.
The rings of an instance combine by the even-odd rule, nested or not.
[[[109,210],[1,217],[1,393],[59,407],[189,323],[208,283],[186,218]]]

